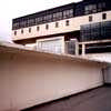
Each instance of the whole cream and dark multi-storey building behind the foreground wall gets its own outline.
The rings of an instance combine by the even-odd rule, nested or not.
[[[13,19],[12,40],[57,53],[111,52],[111,1],[83,0]]]

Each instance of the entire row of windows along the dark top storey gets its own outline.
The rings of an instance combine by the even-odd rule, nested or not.
[[[107,7],[105,2],[100,2],[97,4],[84,6],[83,9],[79,7],[79,10],[78,10],[78,8],[75,8],[75,10],[78,10],[78,13],[81,12],[81,10],[83,10],[83,14],[90,14],[90,13],[103,11],[103,9],[105,9],[105,7]],[[74,9],[68,9],[64,11],[59,11],[56,13],[50,13],[50,14],[41,16],[38,18],[28,19],[24,21],[21,20],[20,22],[13,23],[12,29],[14,30],[14,29],[20,29],[20,28],[37,26],[40,23],[52,22],[52,21],[68,19],[68,18],[72,18],[72,17],[74,17]]]

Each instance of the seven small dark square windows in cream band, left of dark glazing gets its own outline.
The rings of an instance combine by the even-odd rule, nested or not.
[[[65,26],[70,26],[69,20],[65,21]],[[59,28],[59,22],[56,22],[56,28]],[[49,24],[46,24],[46,29],[47,30],[49,29]],[[37,31],[39,31],[39,30],[40,30],[40,27],[38,26]],[[23,29],[21,29],[21,33],[23,34]],[[29,28],[29,33],[31,33],[31,28]],[[14,31],[14,36],[17,36],[17,31]]]

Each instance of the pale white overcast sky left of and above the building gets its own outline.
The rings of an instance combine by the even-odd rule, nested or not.
[[[80,0],[1,0],[0,40],[11,40],[12,19]]]

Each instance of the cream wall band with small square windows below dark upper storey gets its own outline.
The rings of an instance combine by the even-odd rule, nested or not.
[[[107,19],[102,20],[102,13],[107,13]],[[101,21],[110,21],[111,20],[111,11],[104,11],[99,13],[91,14],[93,17],[93,21],[89,22],[89,16],[75,17],[68,19],[70,21],[69,26],[65,26],[67,20],[60,20],[59,28],[56,28],[56,22],[39,24],[40,30],[37,31],[37,26],[30,27],[32,29],[31,33],[29,33],[29,28],[23,28],[23,33],[21,33],[21,29],[17,30],[17,36],[14,36],[14,30],[12,31],[12,40],[22,40],[27,38],[64,33],[80,30],[80,26],[101,22]],[[46,24],[49,24],[49,29],[46,29]]]

